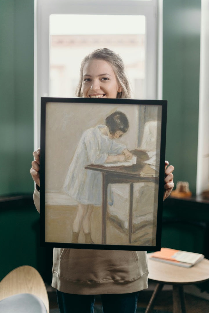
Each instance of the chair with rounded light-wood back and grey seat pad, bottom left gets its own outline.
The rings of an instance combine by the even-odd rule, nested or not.
[[[20,266],[3,278],[0,282],[0,312],[49,313],[47,290],[36,269]]]

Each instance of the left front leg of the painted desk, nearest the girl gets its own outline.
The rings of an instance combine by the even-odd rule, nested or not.
[[[107,227],[107,187],[108,182],[106,174],[102,173],[102,244],[106,244],[106,227]]]

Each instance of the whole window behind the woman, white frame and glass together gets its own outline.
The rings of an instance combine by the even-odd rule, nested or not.
[[[159,7],[157,0],[35,1],[35,149],[40,144],[41,96],[74,97],[80,62],[94,49],[105,45],[121,55],[134,98],[161,98]]]

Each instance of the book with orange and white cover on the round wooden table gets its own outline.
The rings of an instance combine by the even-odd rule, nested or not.
[[[194,253],[170,248],[161,248],[161,251],[154,252],[150,258],[158,262],[173,264],[182,267],[191,267],[204,259],[201,253]]]

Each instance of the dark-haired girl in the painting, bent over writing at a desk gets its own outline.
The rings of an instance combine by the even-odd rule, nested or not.
[[[101,172],[85,170],[85,166],[124,162],[132,158],[132,153],[124,145],[115,142],[115,139],[120,138],[128,130],[129,122],[126,115],[116,111],[106,118],[105,124],[84,131],[65,179],[65,191],[79,203],[73,223],[72,243],[78,243],[81,226],[85,243],[93,243],[90,234],[90,215],[93,205],[101,206]]]

